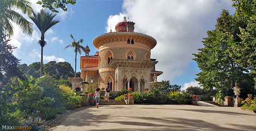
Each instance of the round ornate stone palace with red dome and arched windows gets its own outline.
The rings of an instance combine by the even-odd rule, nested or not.
[[[158,76],[163,73],[155,71],[157,61],[150,59],[150,51],[155,47],[156,40],[149,35],[133,32],[134,24],[124,19],[124,22],[116,25],[116,32],[94,38],[93,44],[99,52],[80,58],[81,77],[85,76],[88,82],[93,78],[93,83],[98,83],[100,88],[108,85],[113,91],[128,88],[138,92],[146,88],[151,90],[149,82],[154,74]]]

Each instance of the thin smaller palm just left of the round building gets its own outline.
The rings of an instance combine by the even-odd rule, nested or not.
[[[84,48],[80,43],[83,43],[83,39],[81,38],[78,42],[75,41],[74,37],[72,34],[70,34],[70,37],[73,39],[72,44],[66,46],[64,49],[69,48],[69,47],[75,47],[75,53],[77,56],[77,51],[79,54],[81,54],[81,49],[86,52],[86,48]],[[75,88],[76,88],[76,57],[75,57]]]

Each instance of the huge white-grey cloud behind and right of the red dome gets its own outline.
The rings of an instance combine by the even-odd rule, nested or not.
[[[109,16],[106,32],[110,25],[123,21],[135,22],[135,32],[153,36],[156,47],[151,50],[151,58],[156,58],[156,70],[163,71],[159,80],[175,81],[174,77],[189,70],[193,53],[203,47],[206,31],[214,29],[216,18],[220,17],[222,8],[232,9],[232,1],[154,1],[124,0],[123,12]],[[111,24],[110,24],[111,21]]]

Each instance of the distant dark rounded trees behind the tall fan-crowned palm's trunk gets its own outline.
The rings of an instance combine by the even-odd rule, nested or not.
[[[27,64],[20,64],[19,69],[22,71],[22,73],[31,75],[34,78],[40,77],[40,62],[34,62],[29,66],[27,66]],[[64,79],[74,76],[74,69],[68,62],[57,63],[56,61],[50,61],[44,64],[44,71],[46,74],[49,74],[56,80],[59,80],[60,76],[62,76]]]

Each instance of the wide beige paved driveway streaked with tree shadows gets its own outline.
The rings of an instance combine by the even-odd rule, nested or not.
[[[256,130],[256,114],[235,107],[106,105],[70,114],[54,130]]]

